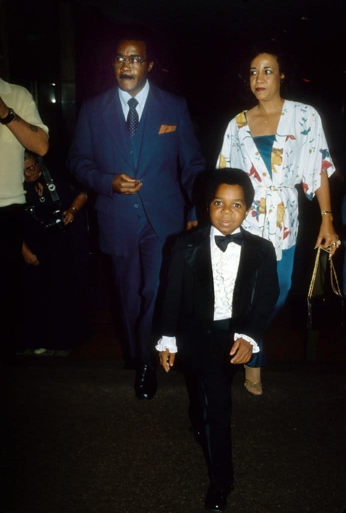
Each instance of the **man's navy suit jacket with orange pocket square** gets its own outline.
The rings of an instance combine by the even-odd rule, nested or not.
[[[135,163],[117,87],[81,107],[68,164],[77,180],[97,193],[105,253],[116,254],[124,239],[135,236],[139,199],[162,242],[180,232],[186,198],[191,201],[193,183],[205,165],[183,98],[150,85],[138,134]],[[137,194],[112,190],[120,173],[143,182]]]

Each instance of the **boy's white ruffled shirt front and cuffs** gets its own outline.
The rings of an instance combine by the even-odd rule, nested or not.
[[[233,233],[240,232],[238,228]],[[214,226],[210,229],[211,266],[214,283],[214,321],[232,317],[232,300],[238,273],[241,246],[230,242],[225,252],[215,244],[215,235],[223,235]],[[247,335],[234,333],[234,340],[244,339],[252,345],[252,352],[259,351],[257,343]],[[178,352],[176,337],[162,336],[155,346],[158,351]]]

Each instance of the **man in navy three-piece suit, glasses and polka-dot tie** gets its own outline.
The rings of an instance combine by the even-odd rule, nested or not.
[[[114,58],[118,87],[81,107],[69,153],[71,172],[97,193],[100,247],[112,255],[124,356],[136,362],[139,399],[152,399],[157,389],[152,325],[163,246],[185,222],[187,229],[197,225],[192,187],[205,164],[186,102],[149,84],[150,57],[142,34],[122,38]]]

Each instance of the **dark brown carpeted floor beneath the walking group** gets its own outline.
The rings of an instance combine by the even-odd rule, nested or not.
[[[117,323],[92,295],[89,341],[21,351],[1,369],[0,513],[202,512],[208,478],[181,374],[159,370],[156,397],[138,401]],[[292,301],[266,336],[263,396],[245,391],[241,370],[235,377],[227,511],[344,511],[346,331],[308,332]]]

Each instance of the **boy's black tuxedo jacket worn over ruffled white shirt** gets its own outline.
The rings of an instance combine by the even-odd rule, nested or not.
[[[272,243],[243,228],[241,231],[244,240],[234,285],[227,351],[233,344],[234,332],[255,341],[261,339],[279,293]],[[162,307],[161,334],[177,337],[178,354],[203,352],[213,329],[213,315],[209,226],[184,233],[175,243]]]

